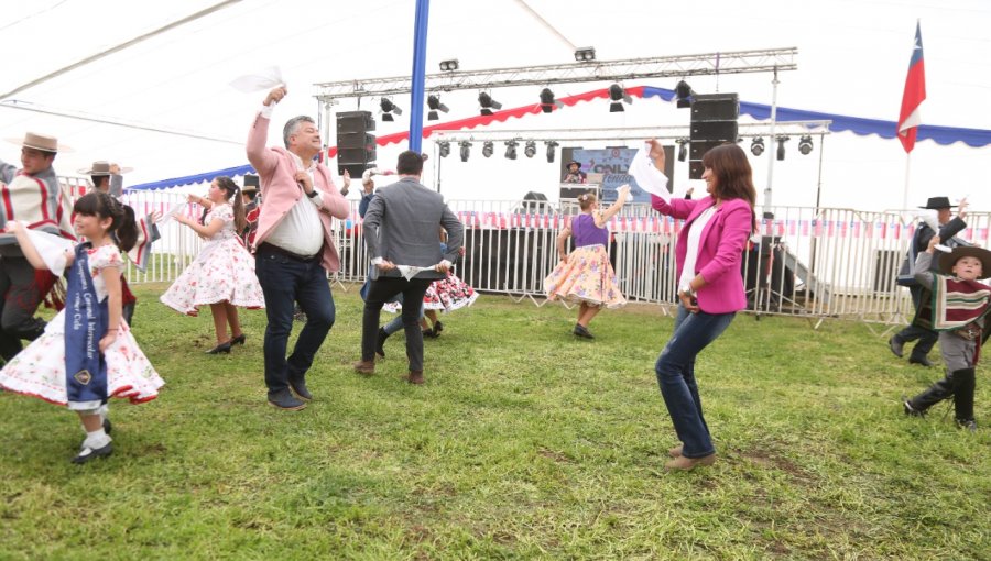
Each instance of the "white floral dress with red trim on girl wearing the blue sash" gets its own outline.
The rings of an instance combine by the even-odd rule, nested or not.
[[[123,267],[116,245],[101,245],[87,250],[92,286],[100,301],[107,299],[107,286],[101,272],[105,268]],[[150,402],[157,397],[165,385],[148,358],[138,348],[131,329],[121,318],[117,340],[104,353],[107,362],[107,395],[130,399],[131,403]],[[45,327],[45,332],[26,349],[18,353],[0,371],[0,386],[18,394],[39,397],[45,402],[67,405],[65,385],[65,310]]]

